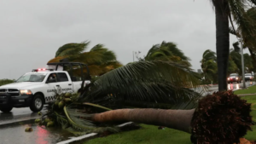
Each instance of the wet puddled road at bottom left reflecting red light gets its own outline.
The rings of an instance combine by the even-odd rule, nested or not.
[[[32,127],[32,132],[25,132]],[[38,124],[11,124],[0,128],[0,144],[54,144],[74,135],[61,128],[45,128]]]

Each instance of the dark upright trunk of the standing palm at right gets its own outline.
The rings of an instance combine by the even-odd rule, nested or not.
[[[227,90],[227,72],[230,55],[229,3],[223,0],[212,1],[215,6],[216,51],[218,64],[218,91]]]

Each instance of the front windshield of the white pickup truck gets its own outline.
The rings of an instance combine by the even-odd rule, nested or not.
[[[26,73],[21,76],[16,82],[43,82],[46,73]]]

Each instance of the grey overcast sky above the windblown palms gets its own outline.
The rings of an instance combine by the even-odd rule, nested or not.
[[[214,11],[209,0],[0,1],[0,78],[45,67],[63,44],[85,40],[104,44],[124,65],[132,51],[143,57],[154,44],[177,43],[197,70],[203,52],[216,51]]]

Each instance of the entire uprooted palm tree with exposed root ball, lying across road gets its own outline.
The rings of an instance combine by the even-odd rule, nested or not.
[[[48,117],[79,134],[116,131],[114,125],[133,121],[183,130],[198,143],[232,143],[251,130],[250,104],[232,91],[202,97],[188,88],[197,84],[195,73],[178,66],[143,61],[120,67],[87,85],[82,95],[57,96]]]

